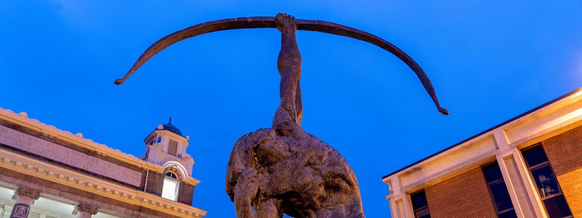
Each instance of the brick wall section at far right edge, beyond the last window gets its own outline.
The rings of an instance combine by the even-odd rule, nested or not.
[[[582,126],[542,141],[574,217],[582,217]]]

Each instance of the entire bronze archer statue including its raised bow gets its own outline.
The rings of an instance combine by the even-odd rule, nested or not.
[[[236,28],[274,28],[281,31],[277,68],[281,74],[281,104],[272,128],[261,128],[239,138],[226,169],[226,194],[235,202],[238,217],[358,217],[364,218],[356,176],[331,146],[301,128],[301,54],[296,30],[320,31],[378,45],[398,56],[417,74],[440,113],[436,92],[424,71],[410,56],[389,42],[364,31],[321,20],[244,17],[197,24],[155,42],[137,59],[123,83],[162,49],[196,35]]]

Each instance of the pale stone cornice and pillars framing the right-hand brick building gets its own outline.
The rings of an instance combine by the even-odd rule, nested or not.
[[[386,175],[382,180],[389,185],[386,199],[390,201],[392,217],[413,216],[407,202],[411,192],[493,160],[499,163],[517,217],[545,217],[543,202],[520,149],[582,126],[581,108],[582,88],[579,88]]]

